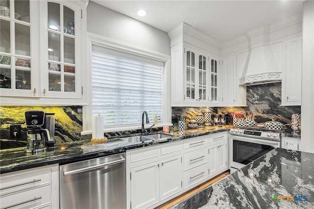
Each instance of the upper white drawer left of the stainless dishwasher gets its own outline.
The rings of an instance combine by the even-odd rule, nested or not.
[[[46,183],[51,183],[50,169],[1,178],[0,196]]]

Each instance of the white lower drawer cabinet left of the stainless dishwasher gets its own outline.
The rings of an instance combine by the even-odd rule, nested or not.
[[[1,174],[0,208],[59,208],[59,165]]]

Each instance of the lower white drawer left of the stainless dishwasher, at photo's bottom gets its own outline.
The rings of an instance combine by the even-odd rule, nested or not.
[[[51,184],[17,191],[0,197],[1,208],[14,206],[12,209],[30,209],[51,203]]]

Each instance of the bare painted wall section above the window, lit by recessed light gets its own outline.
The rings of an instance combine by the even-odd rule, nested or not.
[[[87,6],[87,32],[170,55],[168,34],[93,1]]]

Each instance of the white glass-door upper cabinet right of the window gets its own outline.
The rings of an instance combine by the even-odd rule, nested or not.
[[[171,48],[172,106],[219,104],[219,58],[188,44]],[[183,69],[183,70],[182,70]]]

